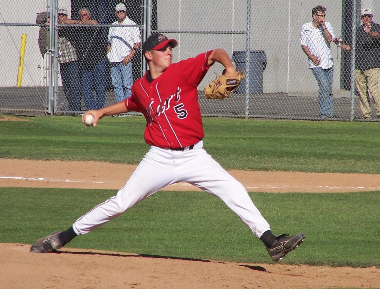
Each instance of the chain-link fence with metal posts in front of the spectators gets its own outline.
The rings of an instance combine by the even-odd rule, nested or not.
[[[21,6],[25,12],[6,13]],[[0,112],[77,115],[127,97],[146,71],[139,43],[158,32],[179,42],[173,62],[223,48],[245,70],[235,93],[217,101],[203,95],[214,72],[222,73],[219,64],[210,69],[198,88],[203,116],[380,118],[376,1],[16,0],[0,7]]]

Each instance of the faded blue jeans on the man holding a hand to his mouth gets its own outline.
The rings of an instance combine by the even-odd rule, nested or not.
[[[320,117],[332,117],[332,108],[334,105],[334,97],[332,96],[332,73],[334,66],[328,69],[321,67],[312,68],[315,79],[318,82],[318,104]]]

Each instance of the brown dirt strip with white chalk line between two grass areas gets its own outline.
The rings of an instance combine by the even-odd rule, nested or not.
[[[121,188],[136,166],[104,162],[0,159],[0,187]],[[380,190],[373,174],[229,171],[250,192],[361,192]],[[199,190],[180,183],[164,190]]]

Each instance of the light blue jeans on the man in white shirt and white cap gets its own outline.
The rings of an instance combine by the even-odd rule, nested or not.
[[[133,84],[132,63],[123,65],[121,62],[111,62],[111,79],[114,86],[116,102],[131,96]]]

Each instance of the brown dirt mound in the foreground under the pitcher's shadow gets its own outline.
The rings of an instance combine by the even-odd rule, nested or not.
[[[62,248],[29,252],[30,245],[0,243],[2,288],[371,288],[376,268],[310,267],[179,259]]]

